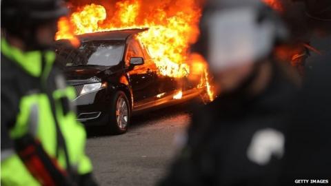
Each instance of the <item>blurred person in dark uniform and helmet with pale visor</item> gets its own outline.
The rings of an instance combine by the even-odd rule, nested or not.
[[[287,32],[260,2],[210,2],[199,48],[221,94],[194,113],[188,141],[161,185],[277,185],[287,107],[297,90],[274,60]]]

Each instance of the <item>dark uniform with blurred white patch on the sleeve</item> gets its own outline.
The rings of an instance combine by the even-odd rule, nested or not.
[[[297,86],[274,65],[259,95],[221,96],[196,112],[188,143],[161,185],[277,185]]]

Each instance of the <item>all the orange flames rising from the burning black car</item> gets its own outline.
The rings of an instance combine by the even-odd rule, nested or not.
[[[157,0],[148,3],[122,0],[84,5],[70,1],[72,13],[68,18],[59,20],[56,39],[69,39],[72,45],[78,46],[76,35],[148,28],[136,37],[159,69],[158,75],[200,79],[199,87],[205,87],[206,97],[213,101],[214,90],[208,65],[201,55],[190,52],[190,45],[199,37],[201,5],[202,2],[191,0]],[[175,95],[174,99],[181,99],[180,94]]]

